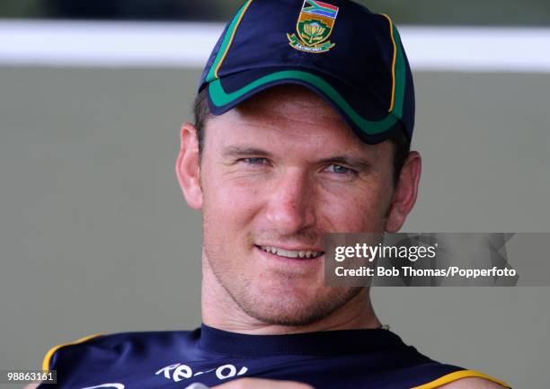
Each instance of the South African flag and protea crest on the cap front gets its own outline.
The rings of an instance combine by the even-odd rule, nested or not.
[[[287,34],[294,49],[309,53],[324,53],[335,43],[328,40],[333,32],[338,7],[315,0],[305,0],[296,25],[296,34]]]

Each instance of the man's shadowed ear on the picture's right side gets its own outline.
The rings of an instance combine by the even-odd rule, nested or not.
[[[407,215],[409,215],[412,206],[416,202],[420,176],[421,156],[418,152],[412,151],[407,156],[399,174],[399,181],[397,181],[390,211],[386,219],[386,232],[396,233],[404,224]]]

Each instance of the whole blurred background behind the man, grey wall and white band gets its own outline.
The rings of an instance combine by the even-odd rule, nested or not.
[[[412,63],[423,171],[403,231],[550,232],[550,3],[361,3]],[[239,4],[0,2],[0,370],[91,333],[200,325],[200,214],[173,165]],[[550,287],[372,295],[431,358],[547,387]]]

